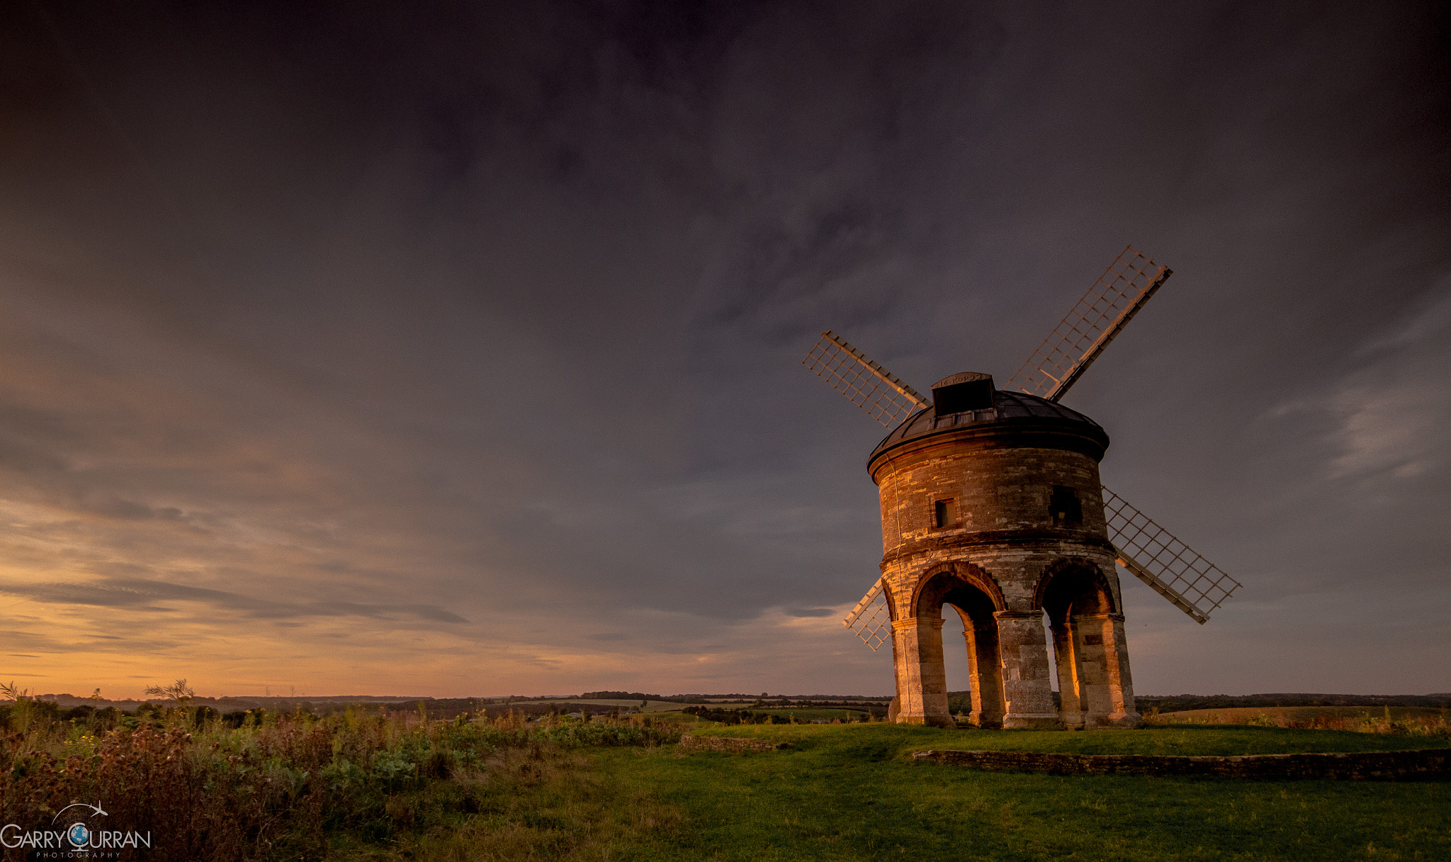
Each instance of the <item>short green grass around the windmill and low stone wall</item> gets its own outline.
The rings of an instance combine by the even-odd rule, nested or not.
[[[702,731],[704,733],[704,731]],[[757,726],[782,752],[681,756],[599,750],[625,795],[653,791],[681,827],[620,858],[844,859],[1447,859],[1451,782],[1049,776],[914,763],[921,749],[1242,755],[1445,746],[1271,727],[975,731]]]

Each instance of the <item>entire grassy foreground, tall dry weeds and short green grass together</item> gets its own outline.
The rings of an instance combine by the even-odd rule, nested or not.
[[[1451,858],[1451,781],[1048,776],[910,758],[1360,752],[1447,747],[1445,733],[723,727],[679,713],[440,721],[422,710],[260,713],[229,727],[183,708],[0,713],[0,823],[45,824],[100,800],[107,826],[155,833],[144,858],[157,862]],[[685,755],[672,744],[682,728],[792,747]]]

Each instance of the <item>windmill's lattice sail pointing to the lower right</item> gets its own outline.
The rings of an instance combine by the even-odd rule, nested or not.
[[[1119,565],[1200,625],[1242,586],[1107,488],[1103,514]]]

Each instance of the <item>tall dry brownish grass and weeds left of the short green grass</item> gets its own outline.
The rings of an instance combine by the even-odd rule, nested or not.
[[[643,717],[530,723],[514,714],[437,721],[422,713],[260,711],[229,727],[173,707],[58,721],[26,699],[10,704],[4,723],[0,824],[49,829],[71,803],[99,803],[106,816],[87,824],[149,832],[152,849],[136,858],[157,861],[402,847],[456,859],[591,858],[608,839],[599,830],[612,823],[605,810],[620,800],[605,805],[614,791],[577,749],[679,739],[679,730]],[[659,827],[669,827],[667,816]],[[498,852],[464,852],[482,846]],[[22,859],[28,850],[3,852]]]

